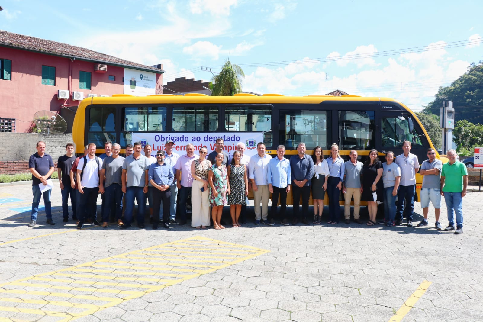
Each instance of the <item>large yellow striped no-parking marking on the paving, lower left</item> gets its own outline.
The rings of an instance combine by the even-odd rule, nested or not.
[[[224,248],[228,252],[218,252]],[[201,236],[186,238],[0,284],[0,311],[14,314],[9,321],[25,316],[71,321],[267,252]]]

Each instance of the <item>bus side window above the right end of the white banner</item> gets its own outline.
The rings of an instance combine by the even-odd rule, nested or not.
[[[225,129],[229,132],[263,132],[267,147],[273,144],[271,108],[229,106],[225,109]]]

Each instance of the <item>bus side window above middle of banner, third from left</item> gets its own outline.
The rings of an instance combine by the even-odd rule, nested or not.
[[[217,107],[174,107],[172,130],[214,132],[218,130],[218,115]]]

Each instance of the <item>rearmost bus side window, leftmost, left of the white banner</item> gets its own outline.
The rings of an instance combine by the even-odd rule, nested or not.
[[[87,142],[95,143],[100,149],[106,141],[117,142],[115,120],[116,108],[91,107]]]

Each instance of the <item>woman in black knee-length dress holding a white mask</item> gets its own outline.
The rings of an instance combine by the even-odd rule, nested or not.
[[[379,161],[377,150],[372,149],[369,152],[369,159],[362,167],[362,200],[367,201],[367,209],[369,211],[368,226],[376,224],[377,201],[384,201],[383,188],[383,163]],[[373,193],[376,193],[374,198]]]

